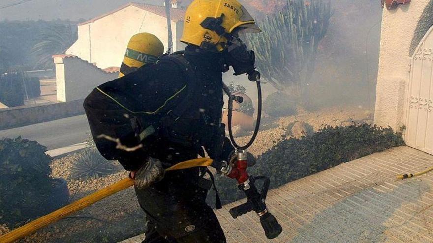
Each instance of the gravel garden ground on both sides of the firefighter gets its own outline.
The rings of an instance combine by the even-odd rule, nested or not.
[[[284,128],[294,121],[309,123],[318,130],[323,124],[341,125],[347,120],[363,120],[368,112],[363,107],[333,107],[315,112],[299,110],[297,115],[264,122],[256,142],[249,149],[254,155],[261,155],[281,139]],[[239,144],[245,144],[252,133],[238,137]],[[75,201],[99,189],[113,184],[127,176],[119,167],[119,172],[98,179],[75,180],[71,178],[71,162],[77,154],[56,159],[52,162],[52,176],[64,178],[68,182],[70,200]],[[7,232],[0,225],[0,235]],[[115,242],[138,235],[144,231],[144,214],[142,213],[133,188],[125,189],[112,195],[72,216],[60,220],[45,229],[25,238],[22,242]]]

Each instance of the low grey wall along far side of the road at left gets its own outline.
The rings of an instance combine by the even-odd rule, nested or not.
[[[0,130],[84,114],[83,99],[0,109]]]

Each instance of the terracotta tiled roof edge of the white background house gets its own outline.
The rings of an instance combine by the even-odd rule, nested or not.
[[[156,5],[150,5],[150,4],[142,4],[142,3],[136,3],[136,2],[129,2],[128,4],[126,4],[126,5],[118,8],[116,10],[113,10],[113,11],[111,11],[109,13],[97,16],[97,17],[95,17],[93,19],[90,19],[90,20],[88,20],[86,22],[79,23],[78,25],[80,26],[80,25],[84,25],[84,24],[95,22],[98,19],[102,19],[105,16],[108,16],[110,14],[116,13],[116,12],[118,12],[118,11],[126,8],[126,7],[129,7],[129,6],[138,7],[138,8],[141,8],[141,9],[145,10],[145,11],[154,13],[156,15],[159,15],[159,16],[162,16],[162,17],[166,17],[165,16],[165,7],[164,6],[156,6]],[[180,9],[180,8],[171,8],[170,9],[170,19],[173,20],[174,22],[183,21],[184,20],[184,16],[185,16],[185,9]]]

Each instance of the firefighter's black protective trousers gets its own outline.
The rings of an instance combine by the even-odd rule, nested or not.
[[[198,168],[167,172],[146,189],[135,188],[146,213],[143,243],[225,243],[215,213],[206,204],[207,190],[197,184]]]

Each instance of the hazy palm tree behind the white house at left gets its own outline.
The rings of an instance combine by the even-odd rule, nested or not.
[[[77,31],[71,25],[57,25],[45,29],[31,49],[38,58],[34,68],[53,68],[52,56],[64,54],[77,38]]]

